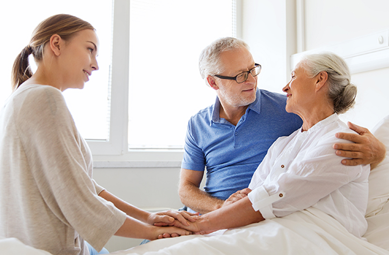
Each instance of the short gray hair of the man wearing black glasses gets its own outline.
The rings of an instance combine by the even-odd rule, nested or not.
[[[198,69],[201,78],[206,79],[208,75],[223,73],[224,67],[220,63],[220,54],[242,47],[248,49],[247,43],[234,37],[223,37],[213,41],[201,52],[199,57]]]

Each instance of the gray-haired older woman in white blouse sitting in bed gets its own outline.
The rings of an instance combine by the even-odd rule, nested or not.
[[[353,106],[356,95],[346,63],[330,53],[308,55],[283,91],[286,111],[301,117],[301,129],[279,138],[249,187],[231,195],[222,208],[198,217],[190,230],[239,227],[313,206],[355,236],[365,233],[370,167],[345,166],[333,149],[337,132],[353,132],[337,116]]]

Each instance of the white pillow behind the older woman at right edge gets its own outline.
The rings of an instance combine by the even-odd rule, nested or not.
[[[373,135],[380,140],[389,151],[389,115],[381,120],[373,129]],[[369,200],[366,217],[371,217],[382,211],[389,200],[389,156],[370,172]]]

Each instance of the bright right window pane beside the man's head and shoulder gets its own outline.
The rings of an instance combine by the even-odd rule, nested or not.
[[[198,57],[234,36],[231,0],[130,0],[129,148],[182,148],[189,118],[214,103]]]

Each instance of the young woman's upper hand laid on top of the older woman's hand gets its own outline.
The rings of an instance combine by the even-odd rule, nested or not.
[[[187,211],[164,211],[159,213],[151,213],[147,223],[155,226],[173,226],[175,220],[180,222],[184,226],[189,226],[189,222],[195,222],[196,219],[193,216],[197,216],[198,213],[190,213]]]

